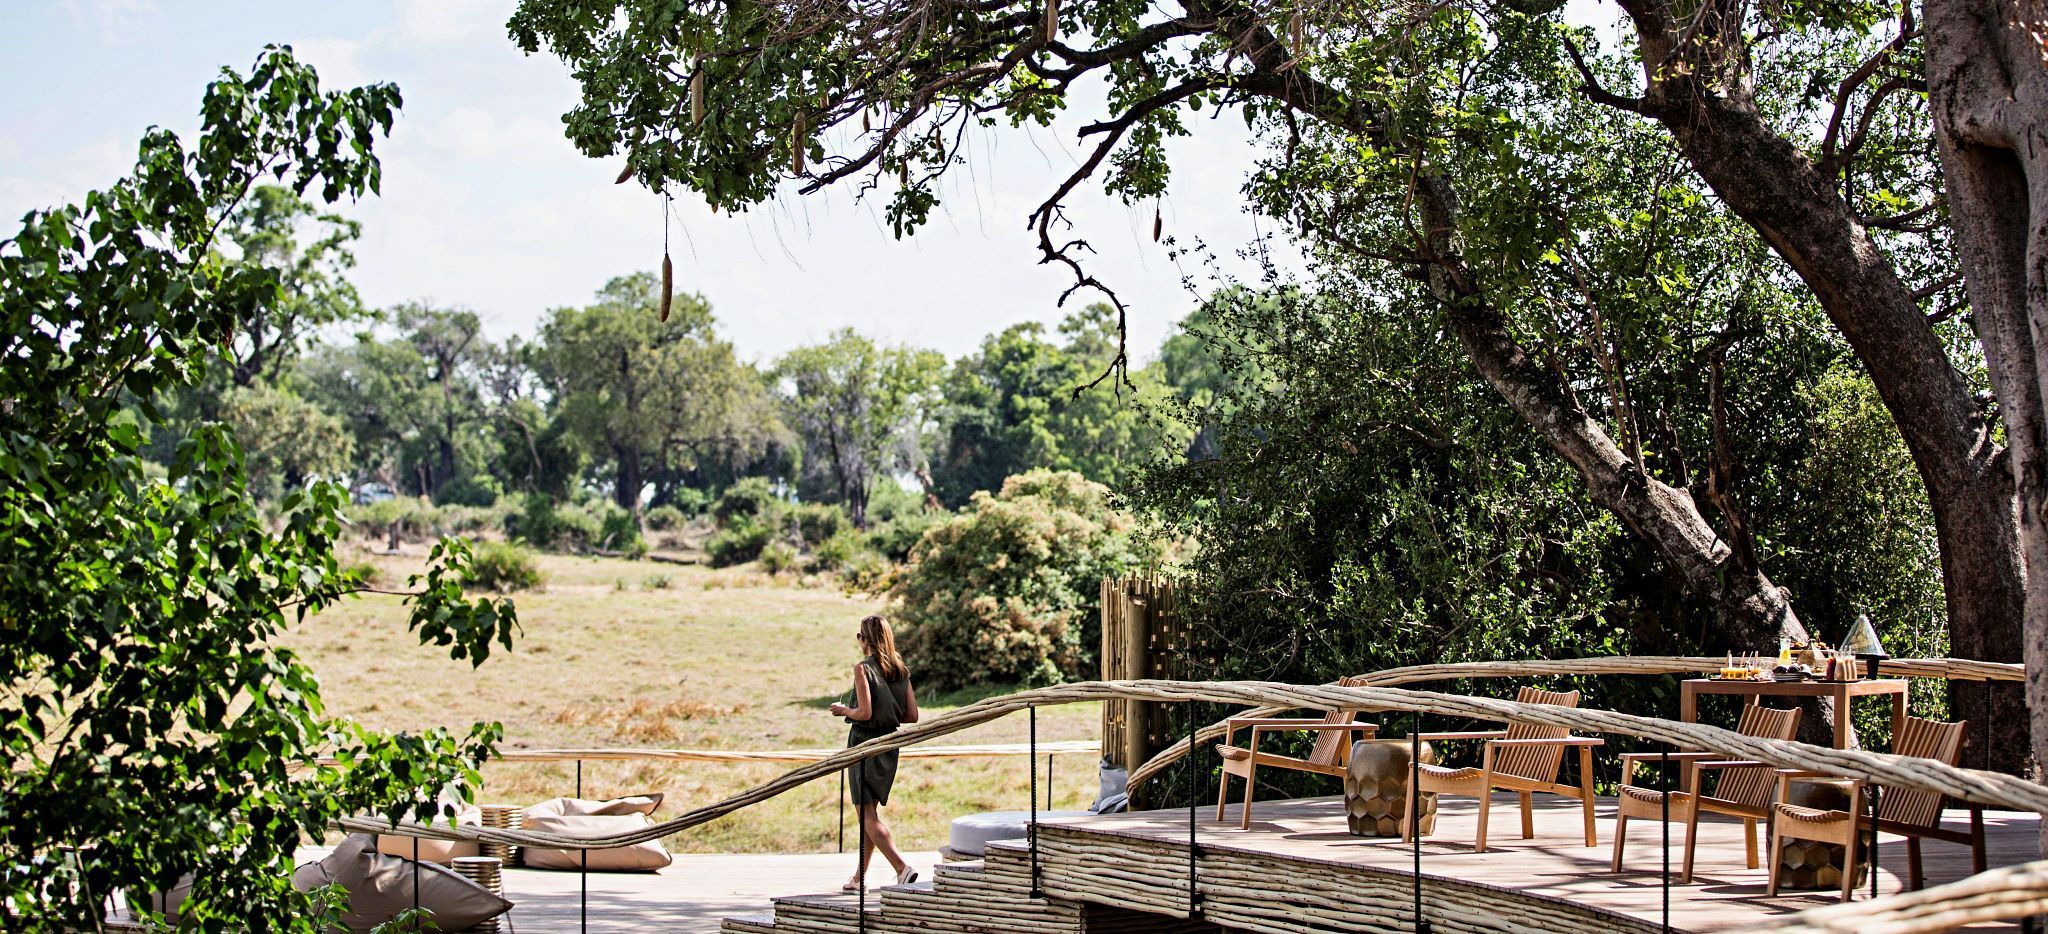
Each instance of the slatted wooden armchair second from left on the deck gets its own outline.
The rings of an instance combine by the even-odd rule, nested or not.
[[[1554,692],[1542,688],[1522,688],[1516,700],[1524,705],[1579,707],[1579,692]],[[1477,733],[1423,733],[1423,739],[1485,739],[1479,768],[1421,766],[1423,795],[1468,795],[1479,799],[1479,838],[1475,852],[1487,852],[1487,811],[1493,805],[1493,789],[1522,795],[1522,838],[1536,836],[1536,809],[1532,793],[1544,791],[1579,799],[1585,811],[1585,846],[1599,846],[1593,830],[1593,748],[1606,739],[1571,735],[1565,727],[1544,727],[1536,723],[1509,723],[1507,729]],[[1579,750],[1579,784],[1559,784],[1556,772],[1565,764],[1565,750]],[[1413,827],[1411,827],[1413,832]]]

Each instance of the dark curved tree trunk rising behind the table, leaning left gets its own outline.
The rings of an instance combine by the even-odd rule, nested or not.
[[[2019,662],[2025,586],[2013,477],[1913,291],[1843,201],[1835,170],[1765,125],[1749,94],[1747,55],[1731,35],[1679,47],[1681,27],[1667,6],[1622,6],[1636,23],[1649,76],[1642,113],[1669,129],[1700,178],[1812,289],[1898,424],[1933,508],[1950,653]],[[1708,47],[1720,55],[1706,57],[1700,49]],[[1688,57],[1696,68],[1651,66]],[[2025,721],[2019,692],[1958,682],[1952,696],[1972,721],[1974,762],[2017,772],[2025,760],[2015,741]],[[1987,735],[1993,727],[2001,735]]]

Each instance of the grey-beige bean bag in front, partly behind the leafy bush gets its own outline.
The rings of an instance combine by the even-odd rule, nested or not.
[[[434,926],[440,930],[473,928],[512,909],[510,901],[455,875],[453,868],[377,852],[369,834],[350,834],[328,858],[299,866],[291,875],[291,885],[299,891],[313,891],[322,885],[348,889],[348,911],[342,914],[342,924],[352,932],[367,932],[397,918],[399,911],[412,909],[416,866],[420,907],[434,911]]]

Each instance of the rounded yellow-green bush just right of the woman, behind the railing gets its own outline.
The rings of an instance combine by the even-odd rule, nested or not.
[[[1049,684],[1087,676],[1102,578],[1157,549],[1071,471],[1010,477],[924,535],[889,596],[920,684]]]

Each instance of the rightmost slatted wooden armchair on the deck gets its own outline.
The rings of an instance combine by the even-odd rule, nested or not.
[[[1931,719],[1907,717],[1898,735],[1892,737],[1892,750],[1901,756],[1919,756],[1946,762],[1950,766],[1962,756],[1962,731],[1966,723],[1942,723]],[[1841,868],[1841,901],[1849,901],[1855,891],[1860,840],[1868,838],[1870,817],[1864,813],[1864,780],[1849,780],[1849,809],[1847,811],[1825,811],[1817,807],[1800,807],[1786,803],[1786,791],[1790,782],[1798,780],[1841,780],[1835,776],[1819,772],[1800,772],[1792,768],[1778,770],[1778,803],[1772,815],[1772,887],[1769,895],[1778,895],[1778,856],[1784,848],[1786,836],[1794,840],[1817,840],[1823,844],[1847,846],[1849,858]],[[1970,846],[1970,871],[1985,871],[1985,811],[1980,807],[1970,807],[1970,830],[1946,830],[1942,827],[1942,803],[1944,797],[1931,791],[1917,789],[1886,789],[1878,795],[1878,830],[1884,834],[1898,834],[1907,838],[1907,889],[1921,887],[1921,858],[1919,842],[1923,838],[1946,840],[1952,844]]]

